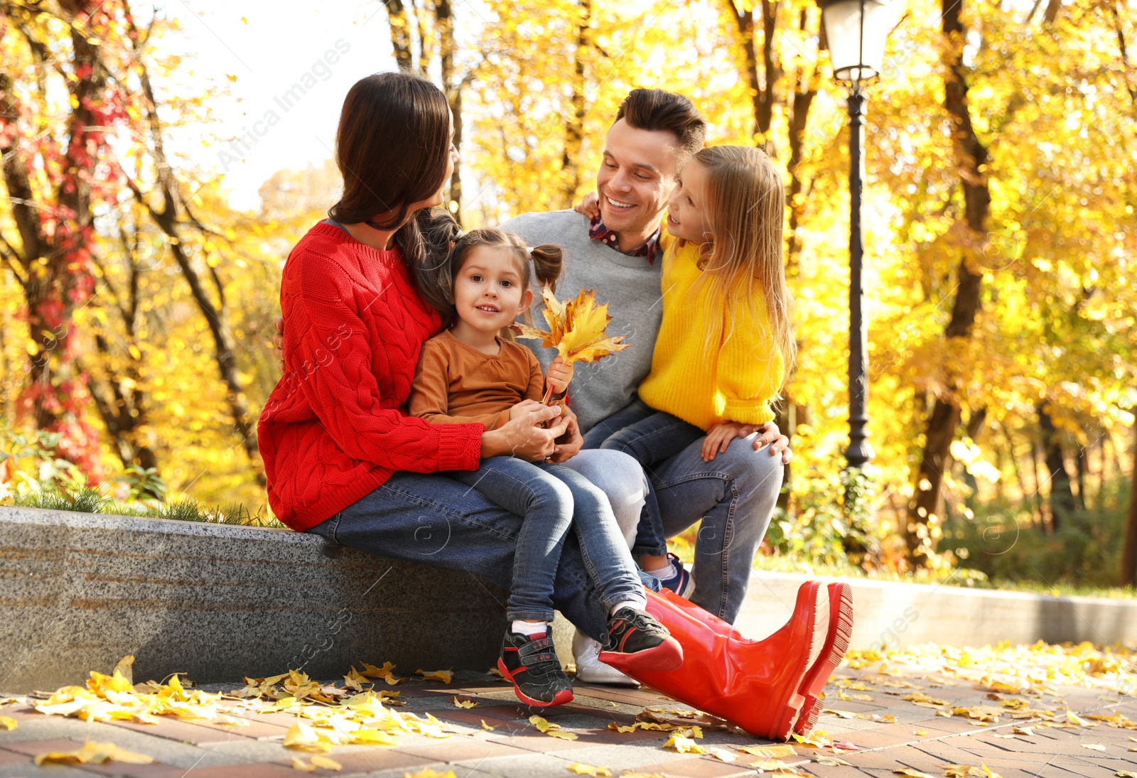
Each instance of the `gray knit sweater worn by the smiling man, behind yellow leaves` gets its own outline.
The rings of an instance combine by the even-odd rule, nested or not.
[[[565,251],[565,274],[557,284],[557,298],[576,296],[581,289],[596,289],[598,303],[608,304],[609,336],[624,336],[631,348],[594,364],[576,363],[568,387],[572,409],[587,432],[594,424],[628,405],[636,388],[652,369],[652,351],[659,333],[663,305],[659,296],[659,268],[656,258],[632,257],[588,237],[588,218],[574,210],[522,214],[501,224],[506,232],[521,235],[529,246],[556,243]],[[536,291],[536,290],[534,290]],[[534,323],[548,325],[540,314],[541,297],[533,301]],[[537,354],[543,370],[557,355],[541,348],[540,341],[520,340]]]

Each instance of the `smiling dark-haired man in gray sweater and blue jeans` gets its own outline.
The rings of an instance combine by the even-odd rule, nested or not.
[[[623,336],[632,346],[576,369],[568,396],[586,448],[599,447],[654,413],[638,399],[636,389],[650,371],[662,316],[661,223],[675,177],[703,147],[705,134],[706,123],[687,98],[662,90],[633,90],[621,104],[605,139],[604,160],[596,176],[599,217],[555,210],[523,214],[501,224],[530,246],[561,246],[565,250],[565,274],[558,283],[562,296],[595,288],[597,300],[608,304],[613,317],[608,333]],[[540,307],[539,301],[536,307]],[[556,351],[523,342],[533,348],[547,370]],[[789,441],[769,424],[732,441],[709,462],[700,455],[702,445],[702,439],[696,440],[647,473],[666,537],[703,520],[695,546],[694,585],[691,574],[667,554],[665,538],[658,537],[649,522],[621,529],[629,539],[634,537],[632,553],[645,572],[732,622],[746,595],[754,554],[773,514],[782,463],[790,457]],[[769,450],[760,450],[766,447]],[[640,488],[629,485],[632,490]],[[616,515],[622,523],[628,521],[622,518],[626,512],[616,511]],[[626,680],[599,662],[598,644],[578,635],[573,648],[582,680]]]

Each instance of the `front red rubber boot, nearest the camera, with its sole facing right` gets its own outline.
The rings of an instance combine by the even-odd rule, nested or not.
[[[725,621],[671,591],[648,591],[647,596],[648,612],[683,646],[683,664],[672,672],[613,667],[675,700],[729,719],[752,735],[788,738],[805,704],[798,689],[828,632],[825,588],[815,581],[803,585],[790,623],[761,642],[746,639]],[[713,627],[707,619],[714,619]]]

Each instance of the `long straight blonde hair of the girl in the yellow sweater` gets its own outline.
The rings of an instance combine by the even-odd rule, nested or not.
[[[736,316],[756,315],[762,295],[773,345],[788,376],[797,345],[794,299],[782,260],[786,189],[781,175],[764,151],[744,146],[711,146],[692,159],[707,171],[704,217],[714,235],[702,248],[704,272],[697,285],[707,284],[705,299],[722,300],[731,322]],[[732,332],[732,324],[728,326],[724,340]]]

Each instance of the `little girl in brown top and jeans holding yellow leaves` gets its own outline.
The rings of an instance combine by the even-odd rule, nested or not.
[[[539,404],[546,382],[554,391],[564,391],[572,380],[571,365],[555,361],[542,376],[537,357],[503,337],[532,305],[531,266],[541,283],[555,285],[561,248],[529,250],[517,235],[473,230],[455,241],[447,265],[440,283],[454,306],[454,324],[423,346],[407,400],[409,413],[432,423],[480,422],[495,430]],[[600,489],[548,460],[495,456],[482,460],[475,471],[449,475],[525,518],[517,532],[506,603],[512,624],[498,659],[498,669],[523,702],[547,706],[572,700],[572,685],[561,669],[549,629],[561,549],[570,529],[609,612],[600,659],[617,655],[645,668],[679,667],[682,649],[645,610],[642,584]]]

